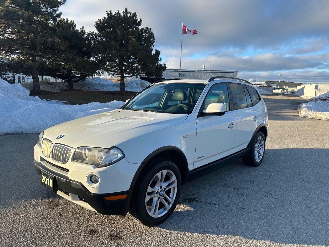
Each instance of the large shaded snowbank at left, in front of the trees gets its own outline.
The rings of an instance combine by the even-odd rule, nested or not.
[[[39,133],[55,124],[110,111],[124,102],[92,102],[67,105],[60,101],[29,96],[21,84],[9,84],[0,79],[0,135],[9,133]]]

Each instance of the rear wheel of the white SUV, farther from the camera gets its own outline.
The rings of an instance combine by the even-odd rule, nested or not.
[[[242,161],[248,166],[259,166],[265,155],[265,136],[263,132],[257,132],[251,142],[250,150],[242,156]]]

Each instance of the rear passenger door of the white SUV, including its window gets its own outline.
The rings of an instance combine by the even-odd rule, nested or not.
[[[240,83],[229,83],[232,95],[232,109],[237,118],[237,133],[232,153],[247,147],[258,124],[258,112],[253,106],[247,88]]]

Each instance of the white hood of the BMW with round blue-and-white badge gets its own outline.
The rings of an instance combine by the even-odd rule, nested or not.
[[[180,124],[187,116],[116,109],[55,125],[46,129],[43,137],[72,148],[110,148],[135,136]],[[57,139],[60,135],[64,136]]]

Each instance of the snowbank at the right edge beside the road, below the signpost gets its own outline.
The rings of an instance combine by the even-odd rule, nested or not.
[[[310,98],[307,103],[298,105],[300,117],[329,120],[329,91],[316,97]]]

